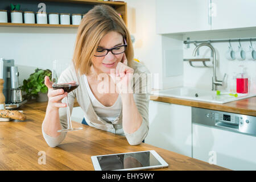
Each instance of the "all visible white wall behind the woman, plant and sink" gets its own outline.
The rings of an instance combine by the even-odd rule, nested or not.
[[[145,64],[151,73],[158,74],[160,89],[182,85],[211,89],[212,68],[193,68],[188,63],[182,63],[181,75],[170,76],[176,65],[172,67],[172,64],[168,64],[165,51],[178,50],[183,52],[183,57],[192,57],[195,46],[185,48],[183,40],[187,37],[191,40],[255,37],[255,30],[158,35],[156,34],[156,0],[127,0],[126,2],[128,28],[135,36],[135,58]],[[54,59],[72,58],[76,32],[77,28],[0,27],[0,57],[15,60],[20,72],[19,81],[22,84],[24,78],[28,78],[36,67],[51,69]],[[241,44],[245,50],[249,48],[249,42]],[[253,45],[256,48],[255,42]],[[227,78],[230,78],[232,72],[238,72],[238,65],[243,64],[248,68],[251,82],[254,83],[251,90],[256,90],[256,61],[228,61],[224,56],[228,43],[214,43],[213,46],[217,52],[218,79],[221,80],[224,73],[227,73]],[[238,43],[232,43],[232,46],[237,49]],[[202,47],[201,54],[207,56],[209,50]],[[177,61],[180,66],[182,60]]]

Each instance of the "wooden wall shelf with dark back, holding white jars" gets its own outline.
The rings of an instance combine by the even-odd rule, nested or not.
[[[34,11],[40,9],[39,0],[1,0],[0,10],[7,10],[8,23],[0,23],[0,27],[64,27],[77,28],[77,25],[63,25],[63,24],[26,24],[26,23],[11,23],[10,18],[10,3],[14,5],[20,4],[21,11]],[[109,5],[112,6],[117,13],[122,15],[122,19],[127,26],[127,3],[126,2],[112,2],[112,1],[97,1],[97,0],[44,0],[46,4],[46,13],[69,13],[69,14],[86,14],[95,5]],[[24,18],[24,17],[23,17]],[[35,15],[36,20],[36,15]],[[24,21],[24,19],[23,19]],[[72,23],[72,22],[71,22]]]

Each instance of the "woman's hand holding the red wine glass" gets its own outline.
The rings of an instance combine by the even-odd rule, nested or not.
[[[46,84],[48,88],[48,106],[49,109],[59,109],[60,107],[66,107],[67,104],[62,103],[64,97],[68,95],[67,92],[64,92],[63,89],[56,89],[52,88],[52,82],[49,80],[49,77],[44,77],[44,84]]]

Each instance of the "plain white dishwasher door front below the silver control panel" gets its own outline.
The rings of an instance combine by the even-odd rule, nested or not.
[[[193,123],[193,158],[233,170],[256,170],[256,137]]]

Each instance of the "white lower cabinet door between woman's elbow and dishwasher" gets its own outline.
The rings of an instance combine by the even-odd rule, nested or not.
[[[192,157],[191,107],[150,101],[145,143]]]

